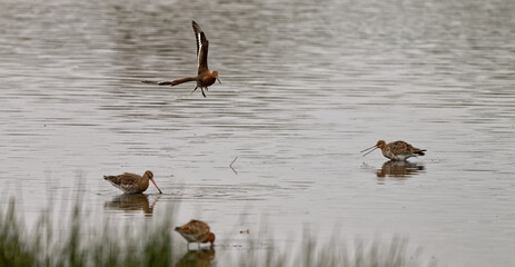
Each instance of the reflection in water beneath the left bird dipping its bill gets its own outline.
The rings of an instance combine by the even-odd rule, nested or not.
[[[122,194],[107,201],[103,207],[107,209],[117,209],[123,211],[139,211],[142,210],[145,215],[151,216],[153,206],[156,205],[159,196],[150,205],[148,196],[145,194]]]

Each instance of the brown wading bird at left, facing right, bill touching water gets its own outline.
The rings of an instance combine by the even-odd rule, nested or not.
[[[103,176],[103,179],[110,181],[115,187],[120,188],[126,194],[143,192],[148,188],[148,181],[152,181],[159,194],[161,189],[153,180],[153,174],[150,170],[145,171],[143,176],[125,172],[118,176]]]

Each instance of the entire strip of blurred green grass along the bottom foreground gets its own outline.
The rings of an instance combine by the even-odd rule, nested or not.
[[[85,227],[85,215],[76,205],[67,230],[55,234],[49,212],[43,212],[33,231],[28,231],[23,219],[17,217],[16,204],[10,200],[6,211],[0,210],[0,266],[59,266],[59,267],[136,267],[216,266],[215,250],[190,250],[182,257],[174,254],[171,218],[155,222],[145,230],[135,230],[129,224],[111,226],[109,222]],[[147,221],[146,224],[151,224]],[[86,234],[87,233],[87,234]],[[334,238],[316,240],[305,234],[299,248],[280,253],[274,245],[259,248],[263,240],[250,240],[247,253],[231,260],[232,266],[350,266],[350,267],[403,267],[420,266],[419,254],[407,256],[407,240],[395,237],[392,244],[378,241],[366,246],[357,241],[347,248]],[[217,247],[215,247],[217,248]],[[224,249],[224,246],[219,250]],[[353,255],[353,256],[351,256]],[[435,263],[428,265],[436,265]]]

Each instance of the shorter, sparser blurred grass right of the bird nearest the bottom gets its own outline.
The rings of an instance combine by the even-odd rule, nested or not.
[[[258,241],[259,243],[259,241]],[[338,239],[318,240],[313,235],[305,234],[300,247],[291,248],[288,254],[280,253],[274,246],[259,253],[258,243],[250,241],[248,255],[240,258],[237,266],[324,266],[324,267],[415,267],[437,266],[436,259],[422,261],[422,249],[413,254],[408,251],[407,238],[394,236],[390,243],[379,240],[369,244],[357,239],[347,247]]]

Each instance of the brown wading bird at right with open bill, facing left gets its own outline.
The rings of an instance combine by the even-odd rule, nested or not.
[[[405,141],[394,141],[386,144],[384,140],[379,140],[375,146],[372,146],[363,150],[362,152],[372,149],[370,151],[363,155],[363,157],[367,156],[377,148],[380,148],[383,156],[389,158],[390,160],[406,160],[410,157],[424,156],[424,151],[426,151],[425,149],[413,147],[412,145]]]

